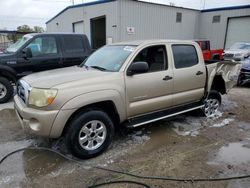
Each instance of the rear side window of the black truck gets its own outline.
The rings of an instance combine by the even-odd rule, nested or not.
[[[63,41],[66,53],[84,52],[84,43],[81,36],[64,36]]]

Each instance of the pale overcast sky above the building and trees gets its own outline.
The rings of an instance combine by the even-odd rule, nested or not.
[[[74,0],[75,4],[96,0]],[[249,5],[250,0],[143,0],[155,3],[205,9],[236,5]],[[205,1],[205,2],[204,2]],[[65,7],[72,5],[72,0],[0,0],[0,29],[14,30],[17,26],[42,26]]]

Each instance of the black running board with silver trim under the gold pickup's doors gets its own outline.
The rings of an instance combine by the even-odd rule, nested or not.
[[[202,103],[194,103],[194,104],[189,104],[189,105],[182,106],[182,107],[171,108],[171,109],[164,110],[164,111],[153,112],[147,115],[142,115],[142,116],[131,118],[127,122],[125,122],[124,125],[127,128],[135,128],[141,125],[145,125],[148,123],[166,119],[172,116],[176,116],[176,115],[190,112],[193,110],[201,109],[203,107],[204,107],[204,104]]]

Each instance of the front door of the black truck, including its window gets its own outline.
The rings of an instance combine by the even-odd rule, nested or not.
[[[24,48],[30,48],[31,58],[24,58],[22,50],[18,54],[18,65],[25,67],[21,76],[32,72],[45,71],[61,67],[61,51],[58,45],[58,38],[54,35],[34,37]]]

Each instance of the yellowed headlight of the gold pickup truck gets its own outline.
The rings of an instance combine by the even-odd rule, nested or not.
[[[44,107],[50,105],[57,95],[56,89],[32,88],[29,95],[29,105]]]

